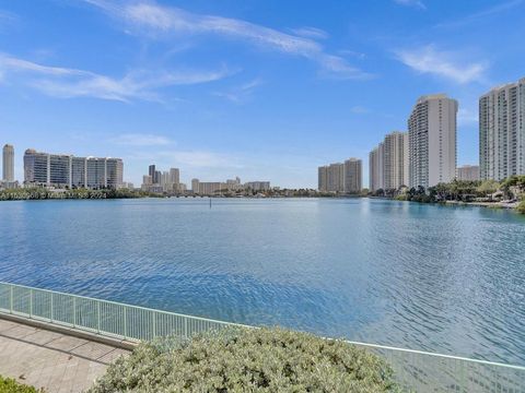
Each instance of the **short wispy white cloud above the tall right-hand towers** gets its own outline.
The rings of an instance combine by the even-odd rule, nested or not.
[[[417,72],[434,74],[462,84],[482,82],[488,68],[485,61],[466,63],[460,61],[457,53],[438,50],[433,45],[398,50],[396,56]]]

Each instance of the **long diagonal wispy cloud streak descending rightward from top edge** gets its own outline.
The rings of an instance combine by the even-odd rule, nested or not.
[[[337,74],[337,78],[357,80],[371,76],[369,73],[349,64],[346,59],[326,52],[319,43],[312,39],[312,34],[317,34],[316,38],[319,37],[322,34],[319,29],[303,29],[303,33],[310,33],[310,37],[305,37],[298,34],[287,34],[238,19],[196,14],[179,8],[164,7],[150,1],[84,1],[122,21],[127,31],[135,34],[154,38],[205,34],[235,38],[266,49],[306,58],[318,63],[324,74]]]

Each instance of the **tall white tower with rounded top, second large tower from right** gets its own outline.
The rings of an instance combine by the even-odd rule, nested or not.
[[[445,94],[422,96],[408,119],[409,186],[424,188],[456,176],[457,102]]]

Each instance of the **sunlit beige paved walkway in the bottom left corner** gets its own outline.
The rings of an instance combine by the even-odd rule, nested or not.
[[[82,392],[126,349],[0,319],[0,376],[48,393]]]

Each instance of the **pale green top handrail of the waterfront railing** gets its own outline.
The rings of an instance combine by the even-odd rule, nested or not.
[[[92,298],[92,297],[82,296],[82,295],[66,294],[66,293],[58,291],[58,290],[35,288],[35,287],[30,287],[30,286],[26,286],[26,285],[5,283],[5,282],[1,282],[1,281],[0,281],[0,285],[8,285],[8,286],[12,286],[12,287],[21,287],[21,288],[32,289],[32,290],[40,290],[40,291],[45,291],[45,293],[49,293],[49,294],[62,295],[62,296],[68,296],[68,297],[72,297],[72,298],[82,298],[82,299],[97,301],[97,302],[102,302],[102,303],[112,303],[112,305],[128,307],[128,308],[131,308],[131,309],[145,310],[145,311],[151,311],[151,312],[155,312],[155,313],[176,315],[176,317],[186,318],[186,319],[190,319],[190,320],[200,320],[200,321],[206,321],[206,322],[219,323],[219,324],[223,324],[223,325],[247,327],[247,329],[257,327],[257,326],[246,325],[246,324],[242,324],[242,323],[226,322],[226,321],[213,320],[213,319],[208,319],[208,318],[202,318],[202,317],[187,315],[187,314],[182,314],[182,313],[177,313],[177,312],[152,309],[152,308],[147,308],[147,307],[141,307],[141,306],[133,306],[133,305],[122,303],[122,302],[113,301],[113,300],[103,300],[103,299]],[[399,348],[399,347],[381,345],[381,344],[362,343],[362,342],[355,342],[355,341],[349,341],[349,340],[345,340],[345,342],[349,343],[349,344],[353,344],[353,345],[358,345],[358,346],[366,346],[366,347],[371,347],[371,348],[375,348],[375,349],[396,350],[396,352],[402,352],[402,353],[409,353],[409,354],[432,356],[432,357],[453,359],[453,360],[469,361],[469,362],[475,362],[475,364],[485,365],[485,366],[495,366],[495,367],[503,367],[503,368],[525,371],[525,366],[508,365],[508,364],[495,362],[495,361],[488,361],[488,360],[472,359],[472,358],[454,356],[454,355],[430,353],[430,352],[418,350],[418,349]]]

